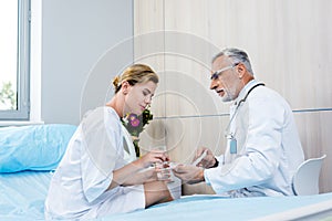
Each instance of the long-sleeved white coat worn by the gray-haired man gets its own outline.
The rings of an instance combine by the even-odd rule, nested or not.
[[[237,140],[237,154],[228,141],[225,155],[217,157],[219,166],[205,170],[205,180],[230,197],[291,196],[293,173],[304,160],[293,114],[284,98],[266,86],[253,88],[238,106],[257,84],[249,82],[230,108],[227,134]]]

